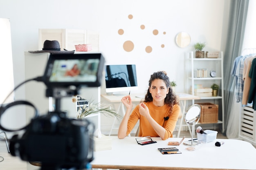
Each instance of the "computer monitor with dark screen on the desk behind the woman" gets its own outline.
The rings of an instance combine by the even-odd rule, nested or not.
[[[138,90],[135,64],[105,65],[106,93]]]

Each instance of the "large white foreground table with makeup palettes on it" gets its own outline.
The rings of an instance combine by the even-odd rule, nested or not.
[[[152,139],[155,144],[141,146],[136,137],[112,138],[112,150],[94,152],[92,168],[130,169],[130,170],[195,170],[203,169],[256,169],[256,149],[246,141],[236,139],[216,139],[224,141],[220,147],[216,141],[200,144],[194,151],[185,146],[175,146],[182,154],[162,155],[157,148],[166,148],[168,141],[180,141],[181,138],[169,138],[165,141],[158,137]],[[184,141],[189,138],[184,139]],[[174,146],[173,146],[174,147]]]

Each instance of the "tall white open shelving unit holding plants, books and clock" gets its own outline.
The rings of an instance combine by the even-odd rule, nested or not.
[[[219,52],[218,58],[195,58],[194,52],[187,53],[187,93],[195,95],[193,88],[195,84],[200,84],[203,88],[211,88],[213,83],[220,86],[218,96],[216,97],[201,97],[198,100],[192,100],[192,104],[211,102],[219,105],[218,113],[222,112],[222,121],[218,117],[217,124],[222,124],[222,130],[224,130],[224,83],[223,83],[223,52]],[[207,70],[206,76],[196,77],[195,72],[197,69]],[[210,76],[210,71],[216,71],[216,77]]]

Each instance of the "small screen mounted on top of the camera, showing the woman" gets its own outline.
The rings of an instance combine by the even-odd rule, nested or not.
[[[45,70],[47,86],[100,86],[104,58],[101,53],[50,55]]]

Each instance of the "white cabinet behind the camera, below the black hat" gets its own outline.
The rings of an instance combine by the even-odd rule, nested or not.
[[[42,76],[48,61],[50,53],[29,53],[25,52],[25,79],[31,79]],[[89,100],[89,102],[100,102],[100,87],[81,88],[79,96]],[[52,111],[52,106],[55,103],[52,97],[45,97],[46,86],[43,82],[27,82],[25,84],[25,99],[38,108],[40,115],[45,115],[48,111]],[[72,102],[72,97],[63,97],[61,99],[61,110],[67,111],[67,116],[70,118],[76,117],[76,106]],[[34,110],[26,106],[26,122],[29,123],[31,116],[34,115]],[[95,128],[100,130],[100,113],[90,115],[90,121],[95,124]]]

